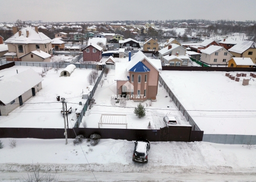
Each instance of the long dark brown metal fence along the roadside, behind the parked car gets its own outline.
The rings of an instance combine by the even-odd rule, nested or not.
[[[166,132],[163,132],[166,131]],[[191,126],[170,126],[160,130],[116,129],[116,128],[73,128],[67,129],[68,138],[82,134],[100,134],[102,139],[128,140],[146,138],[152,142],[195,142],[202,141],[203,131],[191,131]],[[63,128],[0,128],[0,138],[64,139]]]

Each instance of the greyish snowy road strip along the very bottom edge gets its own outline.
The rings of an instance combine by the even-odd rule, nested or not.
[[[94,172],[98,182],[255,182],[256,173],[169,174],[149,172]],[[26,172],[0,172],[0,182],[19,181]],[[58,182],[95,182],[92,172],[61,172]]]

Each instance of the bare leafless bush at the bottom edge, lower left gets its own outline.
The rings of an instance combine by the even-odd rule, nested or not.
[[[23,177],[24,178],[24,177]],[[40,165],[32,165],[31,172],[28,173],[28,177],[24,178],[22,182],[57,182],[56,173],[51,173],[51,168],[47,169],[47,172],[41,172]]]

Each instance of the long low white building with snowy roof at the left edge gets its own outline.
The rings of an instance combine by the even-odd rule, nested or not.
[[[0,81],[0,115],[8,115],[42,89],[43,81],[33,69]]]

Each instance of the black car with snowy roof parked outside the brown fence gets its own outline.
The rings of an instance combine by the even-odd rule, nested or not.
[[[133,162],[148,163],[148,151],[150,149],[149,141],[140,139],[134,143],[135,147],[133,151]]]

